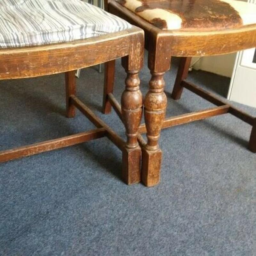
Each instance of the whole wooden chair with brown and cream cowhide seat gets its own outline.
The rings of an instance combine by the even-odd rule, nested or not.
[[[233,0],[117,0],[105,1],[105,6],[107,2],[108,12],[145,32],[152,76],[144,99],[145,124],[139,128],[140,133],[147,132],[147,143],[138,137],[143,147],[143,183],[154,186],[159,182],[162,152],[158,139],[161,129],[174,125],[229,113],[252,125],[249,149],[256,152],[256,118],[185,80],[192,56],[219,55],[256,46],[255,5]],[[181,57],[172,98],[179,99],[186,88],[217,107],[165,119],[167,99],[163,77],[170,68],[171,56]],[[104,113],[110,112],[111,105],[120,112],[112,99],[113,73],[114,61],[111,61],[106,64]]]

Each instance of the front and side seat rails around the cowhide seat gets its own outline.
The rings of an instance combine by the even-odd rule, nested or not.
[[[211,31],[162,30],[126,9],[116,1],[108,4],[108,11],[142,28],[145,32],[146,48],[149,37],[164,38],[171,42],[168,45],[172,56],[193,57],[212,56],[255,47],[256,24],[241,28],[230,28]],[[209,42],[211,42],[209,44]],[[165,47],[163,47],[165,48]],[[161,62],[159,60],[159,62]]]

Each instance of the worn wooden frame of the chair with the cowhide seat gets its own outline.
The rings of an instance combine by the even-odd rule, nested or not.
[[[145,126],[142,125],[139,131],[145,132],[146,128],[148,137],[147,145],[144,146],[142,149],[141,179],[145,185],[154,186],[159,182],[160,177],[162,153],[158,147],[158,139],[162,128],[167,128],[178,124],[184,124],[190,121],[192,122],[196,120],[201,120],[206,117],[225,114],[227,112],[240,118],[248,124],[253,124],[254,119],[252,116],[240,111],[239,109],[231,106],[230,104],[227,104],[223,100],[217,98],[211,93],[200,89],[199,87],[196,87],[194,85],[191,86],[191,84],[184,82],[184,79],[186,79],[187,76],[190,57],[220,55],[255,47],[256,24],[240,26],[241,23],[239,22],[239,20],[236,19],[237,23],[234,23],[232,21],[232,19],[235,18],[235,16],[233,16],[232,19],[229,19],[229,21],[232,21],[230,23],[224,22],[222,24],[218,21],[219,26],[216,26],[216,29],[208,29],[212,26],[212,23],[209,22],[206,24],[207,26],[209,25],[208,27],[206,26],[207,29],[205,29],[206,27],[203,27],[205,24],[201,23],[201,29],[196,28],[193,31],[191,30],[191,28],[184,29],[184,27],[177,30],[164,30],[159,28],[159,26],[163,25],[161,17],[160,20],[154,20],[152,22],[153,24],[151,24],[144,18],[136,15],[136,13],[122,6],[125,5],[126,0],[120,0],[121,4],[117,3],[117,1],[108,1],[108,11],[123,18],[124,20],[127,20],[131,24],[142,28],[145,32],[145,48],[149,51],[148,68],[151,71],[152,77],[150,80],[150,89],[144,101],[144,115],[146,124]],[[175,2],[141,0],[140,2],[142,2],[143,6],[141,10],[137,10],[138,12],[145,12],[147,10],[150,10],[151,4],[161,5],[169,2],[172,5],[182,5],[184,3],[188,3],[189,1],[182,1],[182,3],[178,3],[179,1]],[[136,4],[138,4],[138,2],[136,2]],[[192,1],[189,2],[189,4],[193,5],[197,3],[195,1]],[[218,8],[218,6],[212,5],[212,8],[216,9]],[[186,15],[189,14],[190,12],[187,12]],[[209,21],[214,17],[211,17],[211,15],[207,14],[205,18]],[[222,18],[227,18],[227,16],[223,16]],[[190,25],[194,23],[195,25],[195,22],[200,23],[200,21],[196,19],[187,19],[187,21],[188,22],[183,25],[187,26],[189,25],[188,23],[190,23]],[[225,27],[226,25],[228,25],[228,27]],[[221,26],[222,29],[220,29]],[[174,99],[179,99],[182,93],[182,89],[183,87],[185,87],[190,91],[195,92],[197,95],[203,97],[204,99],[209,100],[213,104],[219,106],[218,108],[198,111],[178,117],[172,117],[164,121],[166,98],[163,93],[163,75],[164,72],[168,71],[170,68],[171,56],[184,57],[181,60],[179,74],[176,79],[172,97]],[[251,141],[253,141],[255,137],[254,131],[255,129],[253,128]],[[250,148],[252,148],[252,144],[253,143],[250,142]]]

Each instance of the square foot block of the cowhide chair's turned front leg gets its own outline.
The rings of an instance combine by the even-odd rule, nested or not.
[[[160,170],[162,163],[162,151],[149,151],[142,149],[141,180],[147,187],[156,186],[160,181]]]

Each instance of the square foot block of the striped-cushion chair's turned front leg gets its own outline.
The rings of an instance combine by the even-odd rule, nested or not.
[[[123,149],[122,177],[127,185],[140,182],[141,148]]]

